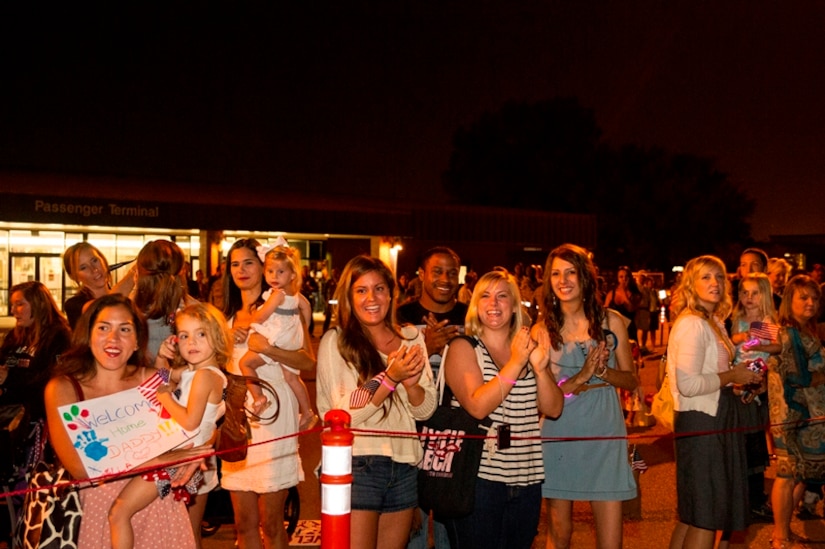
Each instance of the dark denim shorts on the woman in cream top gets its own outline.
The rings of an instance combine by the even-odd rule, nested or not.
[[[352,457],[352,509],[393,513],[418,505],[418,468],[386,456]]]

